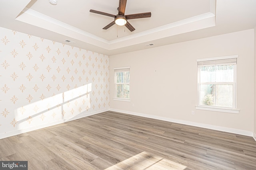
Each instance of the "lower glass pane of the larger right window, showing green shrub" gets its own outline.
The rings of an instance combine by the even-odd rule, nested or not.
[[[207,84],[200,86],[200,105],[233,107],[233,85]]]

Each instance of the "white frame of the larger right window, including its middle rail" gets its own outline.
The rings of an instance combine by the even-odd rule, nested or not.
[[[212,57],[212,58],[206,58],[206,59],[197,59],[197,63],[204,62],[204,61],[216,61],[216,60],[222,60],[222,59],[237,59],[238,55],[231,55],[231,56],[224,56],[224,57]],[[197,106],[196,109],[200,110],[209,110],[209,111],[220,111],[220,112],[227,112],[227,113],[239,113],[239,110],[236,107],[236,70],[237,64],[234,64],[234,81],[233,82],[204,82],[200,83],[200,66],[198,66],[198,94],[197,94]],[[221,84],[231,84],[233,85],[233,107],[218,107],[218,106],[207,106],[207,105],[200,105],[200,85],[205,84],[215,84],[215,85],[221,85]]]

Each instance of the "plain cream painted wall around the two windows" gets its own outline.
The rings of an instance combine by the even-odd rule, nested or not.
[[[239,114],[196,110],[196,59],[238,55]],[[131,102],[114,101],[114,67],[130,66]],[[134,107],[132,107],[134,104]],[[110,56],[110,108],[252,132],[254,29]],[[195,115],[191,111],[195,111]]]

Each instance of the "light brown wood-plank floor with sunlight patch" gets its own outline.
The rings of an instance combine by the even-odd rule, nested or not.
[[[252,137],[107,111],[0,139],[29,170],[256,170]]]

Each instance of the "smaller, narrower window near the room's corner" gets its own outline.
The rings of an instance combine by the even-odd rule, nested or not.
[[[130,67],[114,68],[115,100],[130,101]]]

